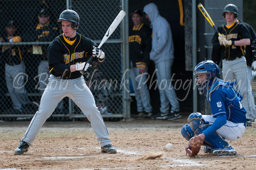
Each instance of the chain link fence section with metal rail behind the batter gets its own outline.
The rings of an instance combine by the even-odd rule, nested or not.
[[[0,120],[30,120],[38,110],[48,83],[47,46],[62,32],[57,19],[65,9],[79,14],[77,32],[100,43],[121,10],[120,0],[1,0],[0,1]],[[48,18],[49,16],[49,18]],[[40,20],[45,22],[41,29]],[[84,75],[102,117],[122,118],[122,29],[117,27],[102,46],[107,60]],[[105,115],[105,116],[104,116]],[[64,98],[48,120],[85,118],[81,110]]]

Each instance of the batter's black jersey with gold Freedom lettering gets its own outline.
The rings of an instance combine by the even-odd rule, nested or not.
[[[67,40],[63,33],[56,37],[48,46],[49,72],[56,77],[62,76],[63,73],[56,73],[53,68],[54,64],[61,63],[70,66],[86,62],[93,54],[93,46],[97,46],[93,40],[79,33],[76,33],[76,40],[73,45],[70,45],[68,41],[69,40]],[[98,58],[93,58],[93,61],[101,63]],[[74,79],[81,77],[79,71],[68,71],[64,73],[64,78]]]

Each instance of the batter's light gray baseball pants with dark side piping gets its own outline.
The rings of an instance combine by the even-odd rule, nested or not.
[[[111,144],[108,138],[108,129],[102,116],[95,105],[95,100],[90,89],[87,87],[83,76],[76,79],[61,79],[50,75],[49,84],[42,95],[38,112],[32,118],[26,133],[21,141],[32,145],[40,128],[47,118],[52,115],[55,107],[62,98],[69,97],[81,109],[91,122],[91,126],[97,135],[101,146]]]

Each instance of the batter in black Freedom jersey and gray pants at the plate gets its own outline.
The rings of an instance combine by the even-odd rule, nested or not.
[[[76,32],[79,27],[79,15],[73,10],[65,10],[58,19],[63,34],[56,37],[48,47],[49,71],[51,73],[47,88],[41,98],[38,112],[32,118],[26,133],[15,149],[22,155],[33,144],[35,136],[47,118],[52,114],[58,102],[64,97],[71,98],[91,122],[91,126],[105,153],[116,153],[108,138],[108,129],[82,74],[90,66],[86,61],[91,55],[93,61],[102,63],[104,52],[96,48],[96,43]]]

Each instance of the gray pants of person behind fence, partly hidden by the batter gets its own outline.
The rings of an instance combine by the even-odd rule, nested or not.
[[[38,89],[41,91],[41,95],[44,93],[44,89],[46,88],[49,82],[49,69],[48,69],[48,61],[40,61],[38,66],[38,79],[39,79],[39,87]],[[64,109],[64,101],[61,100],[57,106],[58,109]]]

